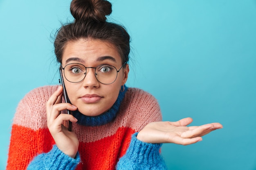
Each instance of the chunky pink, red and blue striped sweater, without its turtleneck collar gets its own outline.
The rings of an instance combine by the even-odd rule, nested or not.
[[[159,153],[161,144],[139,141],[138,131],[149,122],[161,121],[157,100],[141,89],[129,88],[116,118],[101,126],[74,123],[79,150],[73,159],[55,145],[47,128],[45,102],[57,86],[32,90],[19,103],[13,118],[7,170],[166,169]],[[34,159],[34,160],[33,160]]]

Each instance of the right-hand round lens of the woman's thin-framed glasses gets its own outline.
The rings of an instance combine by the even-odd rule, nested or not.
[[[111,84],[117,78],[117,69],[112,65],[99,65],[95,70],[97,80],[103,84]]]

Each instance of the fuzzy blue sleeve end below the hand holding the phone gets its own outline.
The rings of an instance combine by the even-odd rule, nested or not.
[[[27,167],[27,170],[74,170],[80,162],[80,155],[77,153],[73,159],[65,155],[56,145],[48,153],[37,155]]]

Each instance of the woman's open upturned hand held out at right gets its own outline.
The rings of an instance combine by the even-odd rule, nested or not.
[[[192,118],[184,118],[177,122],[151,122],[142,129],[137,139],[147,143],[174,143],[189,145],[202,140],[202,136],[221,129],[220,123],[187,126]]]

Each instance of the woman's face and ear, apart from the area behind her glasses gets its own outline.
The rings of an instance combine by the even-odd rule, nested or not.
[[[122,66],[121,56],[112,44],[95,39],[79,39],[67,42],[62,66],[80,63],[85,67],[94,67],[107,64],[113,65],[117,70]],[[121,68],[117,79],[112,84],[102,84],[97,81],[94,68],[87,68],[87,74],[83,81],[71,83],[64,78],[68,98],[72,105],[86,116],[98,116],[108,111],[117,100],[120,87],[126,83],[129,67]],[[66,69],[66,68],[65,68]],[[62,70],[63,75],[64,71]]]

